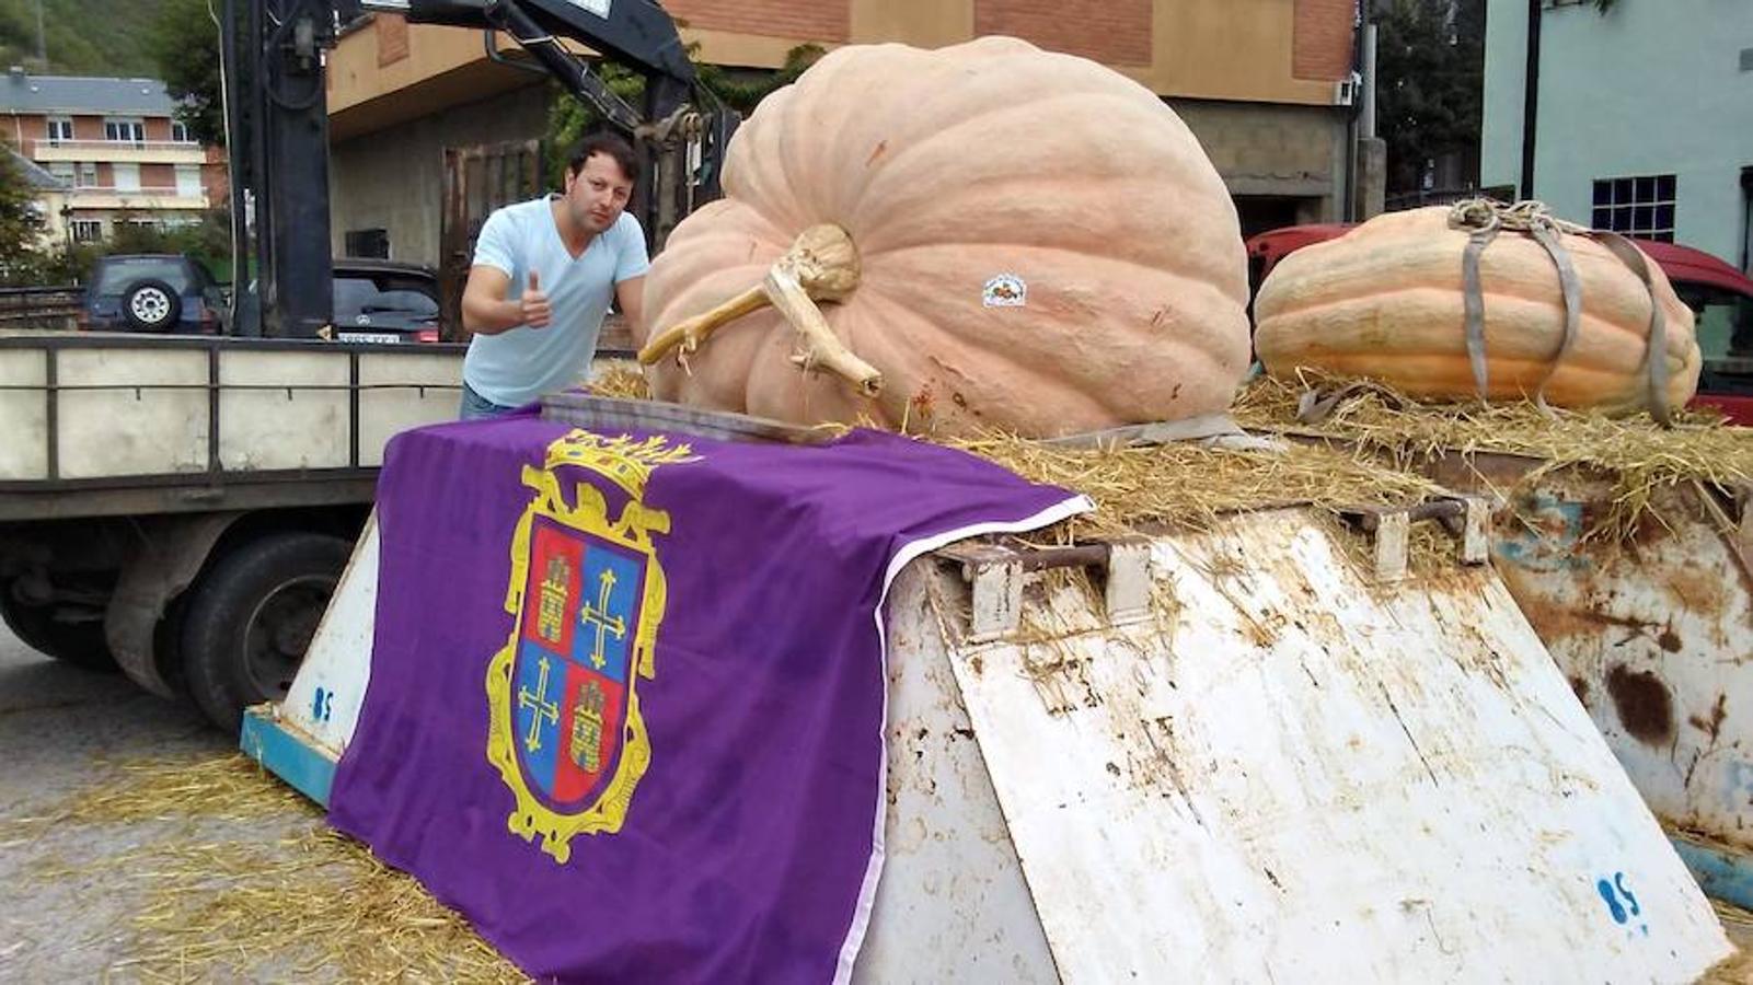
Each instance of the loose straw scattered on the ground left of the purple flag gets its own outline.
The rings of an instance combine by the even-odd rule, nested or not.
[[[319,808],[240,754],[126,762],[30,824],[114,831],[156,820],[186,824],[121,854],[33,873],[102,878],[109,892],[140,901],[128,957],[112,966],[126,978],[528,981],[412,876],[323,827]],[[287,820],[305,829],[256,834]]]

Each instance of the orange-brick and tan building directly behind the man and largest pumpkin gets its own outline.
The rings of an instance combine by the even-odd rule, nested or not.
[[[941,47],[1015,35],[1159,93],[1236,196],[1245,231],[1352,209],[1355,0],[668,0],[696,60],[777,68],[801,44]],[[515,46],[503,37],[503,49]],[[379,14],[330,60],[337,252],[456,263],[442,205],[468,149],[540,138],[550,88],[496,65],[479,32]],[[449,161],[449,163],[447,163]],[[489,175],[486,181],[493,181]],[[1171,233],[1166,230],[1166,233]]]

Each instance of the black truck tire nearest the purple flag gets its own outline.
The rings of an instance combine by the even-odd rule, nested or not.
[[[275,533],[233,545],[195,582],[182,671],[212,724],[237,733],[244,708],[286,698],[351,554],[338,536]]]

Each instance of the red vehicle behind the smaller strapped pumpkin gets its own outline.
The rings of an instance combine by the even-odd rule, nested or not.
[[[1259,291],[1285,256],[1343,237],[1352,224],[1285,226],[1248,240],[1248,287]],[[1692,247],[1632,240],[1667,273],[1697,319],[1704,372],[1692,407],[1714,407],[1735,424],[1753,426],[1753,279]]]

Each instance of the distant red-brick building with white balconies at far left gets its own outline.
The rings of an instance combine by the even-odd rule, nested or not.
[[[74,242],[109,238],[117,223],[196,223],[228,205],[223,151],[189,138],[174,112],[153,79],[21,68],[0,79],[0,138],[67,186],[46,219]]]

